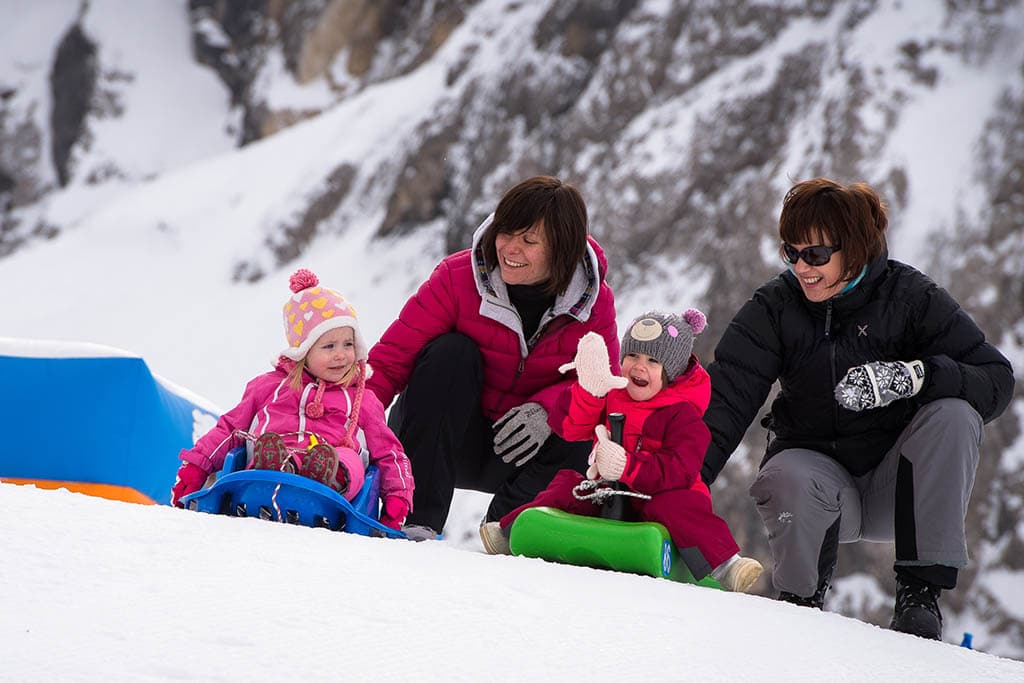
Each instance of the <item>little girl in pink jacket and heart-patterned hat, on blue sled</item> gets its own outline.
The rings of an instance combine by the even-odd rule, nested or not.
[[[359,493],[367,462],[356,430],[381,473],[381,522],[399,528],[413,504],[413,476],[401,443],[384,422],[384,407],[366,381],[367,344],[353,309],[312,272],[299,269],[285,304],[288,348],[273,372],[246,385],[183,461],[171,504],[199,490],[233,446],[250,440],[252,467],[294,472],[331,486],[348,500]]]

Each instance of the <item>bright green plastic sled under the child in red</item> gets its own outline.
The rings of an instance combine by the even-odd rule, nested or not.
[[[722,590],[710,574],[700,581],[693,579],[669,531],[655,522],[623,522],[554,508],[529,508],[512,524],[509,545],[514,555]]]

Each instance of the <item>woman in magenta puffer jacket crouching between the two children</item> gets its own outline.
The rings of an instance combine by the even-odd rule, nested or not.
[[[557,433],[558,367],[596,332],[618,357],[607,262],[572,185],[538,176],[508,190],[470,249],[443,259],[370,350],[367,386],[413,463],[406,532],[435,538],[456,487],[494,494],[484,521],[532,498],[590,446]],[[617,370],[617,368],[616,368]]]

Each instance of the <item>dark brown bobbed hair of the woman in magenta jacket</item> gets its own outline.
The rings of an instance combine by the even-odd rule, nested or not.
[[[559,295],[568,289],[572,274],[587,253],[587,205],[580,190],[549,175],[527,178],[505,193],[495,219],[483,232],[480,246],[490,270],[498,265],[495,239],[499,233],[515,234],[544,221],[551,280],[549,294]]]

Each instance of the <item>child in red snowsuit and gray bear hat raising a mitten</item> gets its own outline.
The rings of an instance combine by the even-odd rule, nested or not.
[[[598,335],[585,335],[572,362],[578,381],[569,389],[562,429],[566,439],[594,439],[589,479],[621,481],[644,498],[630,498],[640,521],[664,524],[679,548],[696,548],[711,575],[726,590],[746,592],[761,575],[761,563],[739,556],[728,525],[712,509],[700,465],[711,433],[701,420],[711,399],[711,379],[693,355],[693,336],[706,325],[691,308],[682,316],[650,311],[634,319],[623,336],[622,377],[614,377],[608,349]],[[623,444],[610,440],[609,414],[626,416]],[[561,470],[531,502],[480,527],[484,549],[508,554],[509,531],[519,514],[546,506],[598,516],[601,508],[573,490],[584,481]]]

